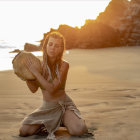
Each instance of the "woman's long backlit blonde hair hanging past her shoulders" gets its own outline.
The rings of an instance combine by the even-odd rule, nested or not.
[[[47,55],[47,44],[48,44],[48,40],[50,37],[53,37],[55,39],[60,39],[61,40],[61,47],[62,47],[62,51],[58,54],[56,61],[55,61],[55,70],[58,66],[58,68],[60,68],[61,66],[61,61],[62,61],[62,57],[63,57],[63,52],[65,50],[65,39],[63,37],[62,34],[60,34],[59,32],[50,32],[44,39],[43,42],[43,46],[42,46],[42,51],[43,51],[43,66],[42,66],[42,75],[45,79],[48,78],[49,76],[49,72],[47,67],[49,67],[49,59],[48,59],[48,55]],[[50,71],[51,72],[51,71]]]

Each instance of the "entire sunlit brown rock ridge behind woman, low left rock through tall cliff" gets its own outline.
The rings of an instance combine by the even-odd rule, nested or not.
[[[62,33],[66,49],[140,45],[140,0],[111,0],[96,20],[86,20],[81,28],[60,25],[44,34],[40,46],[25,44],[26,51],[41,50],[52,31]]]

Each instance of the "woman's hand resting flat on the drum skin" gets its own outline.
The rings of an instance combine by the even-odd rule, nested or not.
[[[33,61],[26,57],[25,59],[25,65],[27,66],[27,68],[29,69],[29,71],[35,76],[38,73],[37,68],[35,67]]]

